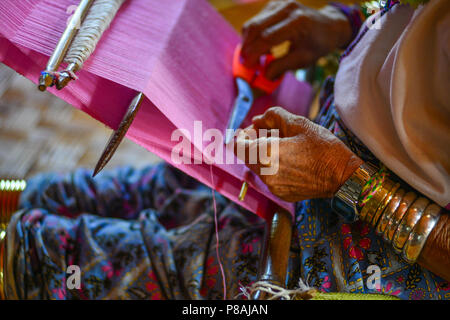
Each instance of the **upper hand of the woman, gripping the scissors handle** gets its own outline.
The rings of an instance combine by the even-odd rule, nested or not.
[[[249,67],[272,47],[291,42],[288,54],[268,67],[267,77],[275,79],[346,46],[352,30],[347,17],[332,6],[314,10],[295,0],[275,0],[245,23],[242,34],[242,56]]]

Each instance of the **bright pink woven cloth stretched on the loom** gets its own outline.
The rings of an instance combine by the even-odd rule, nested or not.
[[[2,0],[0,61],[36,83],[65,28],[67,9],[78,2]],[[225,130],[236,95],[231,61],[239,41],[204,0],[129,0],[77,73],[79,79],[62,91],[49,91],[111,128],[117,128],[131,99],[142,91],[147,98],[128,131],[129,139],[261,217],[270,217],[275,205],[293,213],[293,204],[273,196],[242,163],[214,164],[211,181],[209,164],[176,164],[171,159],[179,143],[171,141],[175,129],[193,137],[194,121],[202,121],[203,131]],[[251,113],[282,105],[305,115],[310,97],[309,85],[288,74]],[[192,144],[202,150],[209,142]],[[240,202],[244,178],[250,188]]]

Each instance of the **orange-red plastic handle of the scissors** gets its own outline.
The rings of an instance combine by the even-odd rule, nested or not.
[[[275,60],[271,54],[267,54],[264,57],[264,64],[260,64],[256,68],[247,68],[241,61],[241,48],[238,44],[234,50],[233,56],[233,76],[246,80],[252,87],[258,88],[271,94],[279,87],[283,78],[271,81],[265,77],[267,66]]]

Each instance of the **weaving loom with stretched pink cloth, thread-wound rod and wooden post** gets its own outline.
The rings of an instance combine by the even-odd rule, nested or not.
[[[202,0],[158,6],[146,0],[81,0],[69,18],[73,5],[71,0],[0,3],[0,60],[38,82],[41,91],[49,89],[113,129],[122,127],[130,110],[124,108],[135,97],[139,111],[128,138],[235,202],[245,181],[250,187],[239,204],[268,222],[259,278],[283,286],[293,205],[273,196],[232,148],[221,145],[227,164],[219,164],[202,152],[205,141],[195,136],[198,121],[203,132],[224,131],[235,95],[231,60],[238,35]],[[308,85],[287,75],[272,96],[256,101],[247,119],[274,104],[306,114],[310,95]],[[187,163],[171,158],[176,129],[193,149]],[[265,297],[263,291],[254,295]]]

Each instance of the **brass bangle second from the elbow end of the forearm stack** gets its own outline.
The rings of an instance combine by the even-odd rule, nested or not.
[[[429,203],[430,200],[420,197],[416,199],[416,201],[414,201],[414,203],[409,207],[397,230],[395,231],[394,238],[392,239],[394,250],[397,253],[402,252],[406,240],[408,240],[411,231],[416,226],[417,222],[419,222],[425,208]]]

